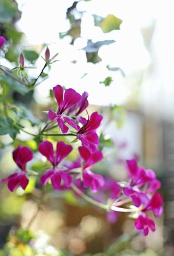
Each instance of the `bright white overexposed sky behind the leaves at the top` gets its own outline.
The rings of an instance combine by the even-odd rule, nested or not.
[[[173,67],[171,64],[174,59],[174,38],[171,36],[174,22],[172,0],[80,1],[77,9],[85,10],[86,13],[82,18],[82,38],[77,39],[74,46],[69,45],[69,36],[64,40],[60,40],[58,36],[59,32],[70,28],[69,21],[66,20],[66,10],[72,5],[73,0],[18,0],[17,2],[23,13],[18,26],[27,35],[27,44],[48,43],[52,55],[59,52],[59,62],[53,64],[50,78],[38,86],[35,94],[38,100],[45,101],[48,89],[61,84],[66,88],[78,89],[80,92],[88,91],[89,102],[92,104],[124,104],[132,92],[133,83],[131,81],[132,84],[129,85],[129,75],[133,72],[141,72],[151,64],[150,73],[145,73],[145,79],[143,74],[142,105],[147,111],[151,107],[156,108],[156,111],[163,111],[162,107],[161,109],[159,107],[160,99],[161,105],[164,104],[166,109],[171,108],[174,99],[171,77]],[[104,34],[100,28],[94,26],[92,14],[106,17],[110,13],[122,19],[123,23],[121,30]],[[141,29],[148,29],[154,23],[154,36],[149,53],[144,45]],[[92,39],[93,42],[114,39],[116,42],[100,48],[99,56],[102,62],[94,65],[87,63],[85,51],[79,50],[86,45],[87,39]],[[77,62],[71,63],[75,59]],[[42,66],[43,61],[37,64]],[[109,72],[105,68],[106,64],[122,68],[127,78],[123,79],[119,72]],[[88,74],[81,79],[85,73]],[[104,85],[99,84],[99,81],[104,80],[108,75],[113,77],[113,83],[105,88]],[[98,94],[99,97],[96,96]]]

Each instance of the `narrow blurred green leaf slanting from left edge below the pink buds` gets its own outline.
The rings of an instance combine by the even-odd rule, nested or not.
[[[25,85],[20,84],[18,81],[15,81],[11,77],[7,77],[7,75],[0,75],[0,84],[9,86],[14,91],[19,92],[21,95],[27,94],[27,92],[30,91],[29,88],[27,88]]]

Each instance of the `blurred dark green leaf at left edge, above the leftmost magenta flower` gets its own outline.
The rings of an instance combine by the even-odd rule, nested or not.
[[[19,128],[15,126],[13,119],[0,114],[0,135],[9,134],[12,139],[15,139],[18,133]]]

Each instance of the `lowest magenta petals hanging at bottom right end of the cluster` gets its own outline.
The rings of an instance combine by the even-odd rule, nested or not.
[[[139,215],[134,222],[134,227],[136,228],[136,230],[143,230],[144,236],[148,235],[149,228],[151,229],[151,231],[155,231],[155,223],[147,215]]]

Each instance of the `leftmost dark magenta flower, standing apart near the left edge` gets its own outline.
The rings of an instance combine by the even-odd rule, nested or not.
[[[29,183],[29,179],[26,176],[26,163],[33,158],[32,152],[26,146],[18,146],[17,149],[13,151],[13,160],[16,165],[20,168],[21,172],[14,172],[7,178],[2,179],[1,183],[7,182],[8,189],[13,192],[13,190],[21,186],[24,190]]]

